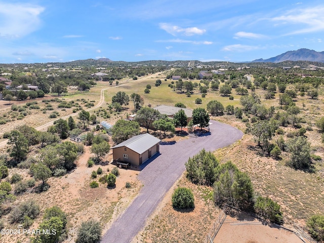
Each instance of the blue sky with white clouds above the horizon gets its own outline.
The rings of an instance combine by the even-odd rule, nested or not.
[[[0,63],[251,61],[324,51],[323,1],[0,0]]]

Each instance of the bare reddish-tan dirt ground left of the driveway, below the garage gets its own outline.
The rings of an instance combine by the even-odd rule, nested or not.
[[[87,166],[88,159],[92,156],[89,152],[90,147],[85,147],[85,153],[78,159],[77,167],[60,178],[50,178],[48,184],[50,189],[41,194],[25,193],[19,196],[13,205],[21,201],[34,199],[41,206],[41,214],[48,207],[57,205],[67,214],[69,237],[64,242],[74,242],[77,227],[83,221],[89,219],[99,220],[103,226],[103,231],[108,228],[111,222],[124,211],[128,204],[136,196],[141,184],[137,180],[136,170],[119,169],[120,176],[117,177],[116,187],[108,189],[107,184],[102,184],[98,181],[107,172],[115,167],[112,164],[95,165],[91,168]],[[105,160],[110,161],[112,155],[106,156]],[[103,169],[102,175],[98,175],[97,179],[91,179],[91,172],[97,170],[98,167]],[[21,170],[20,170],[21,171]],[[14,171],[12,171],[14,172]],[[25,171],[25,176],[27,171]],[[99,183],[98,188],[90,188],[91,181]],[[126,182],[130,182],[132,187],[126,188]],[[8,216],[7,216],[8,217]],[[42,221],[42,216],[38,217],[30,229],[37,229],[38,224]],[[5,226],[5,228],[12,228],[13,226]],[[27,235],[6,235],[1,238],[1,242],[15,243],[17,240],[22,242],[29,242]]]

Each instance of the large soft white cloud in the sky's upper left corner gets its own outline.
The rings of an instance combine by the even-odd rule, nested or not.
[[[44,7],[22,3],[0,2],[0,37],[21,38],[41,26],[39,15]]]

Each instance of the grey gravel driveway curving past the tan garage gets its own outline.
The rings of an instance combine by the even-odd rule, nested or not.
[[[214,151],[239,140],[243,133],[226,124],[211,120],[211,134],[192,136],[173,145],[160,145],[160,155],[145,163],[139,173],[143,188],[132,204],[104,234],[104,243],[127,243],[138,234],[167,191],[181,177],[185,162],[201,149]],[[145,167],[144,167],[145,166]]]

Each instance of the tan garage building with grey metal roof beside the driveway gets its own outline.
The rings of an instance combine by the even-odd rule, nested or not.
[[[149,133],[133,136],[112,147],[112,158],[139,166],[159,152],[159,143],[160,140]]]

